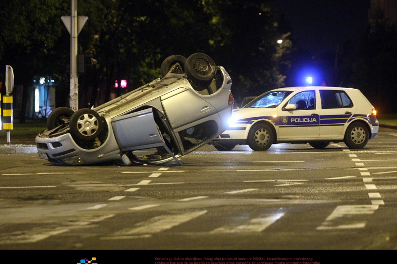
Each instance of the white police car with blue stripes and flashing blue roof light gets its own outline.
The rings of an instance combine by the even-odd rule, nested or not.
[[[324,149],[330,142],[362,148],[378,134],[376,110],[353,88],[305,86],[266,92],[235,109],[229,129],[212,144],[231,150],[248,144],[266,150],[274,143],[309,143]]]

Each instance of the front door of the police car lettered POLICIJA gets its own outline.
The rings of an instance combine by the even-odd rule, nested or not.
[[[317,110],[318,95],[316,90],[297,92],[286,103],[279,105],[278,139],[282,140],[316,140],[320,138],[320,119]],[[286,110],[287,104],[296,109]]]

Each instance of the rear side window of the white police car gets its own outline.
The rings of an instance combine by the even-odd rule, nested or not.
[[[320,90],[320,98],[322,109],[353,107],[353,102],[345,91]]]

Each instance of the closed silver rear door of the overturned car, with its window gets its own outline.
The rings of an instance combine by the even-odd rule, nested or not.
[[[222,126],[215,107],[192,89],[178,88],[161,100],[183,153],[210,140]]]

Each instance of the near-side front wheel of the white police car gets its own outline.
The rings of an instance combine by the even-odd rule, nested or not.
[[[266,150],[272,145],[273,138],[272,129],[267,124],[258,123],[248,133],[247,143],[253,150]]]

